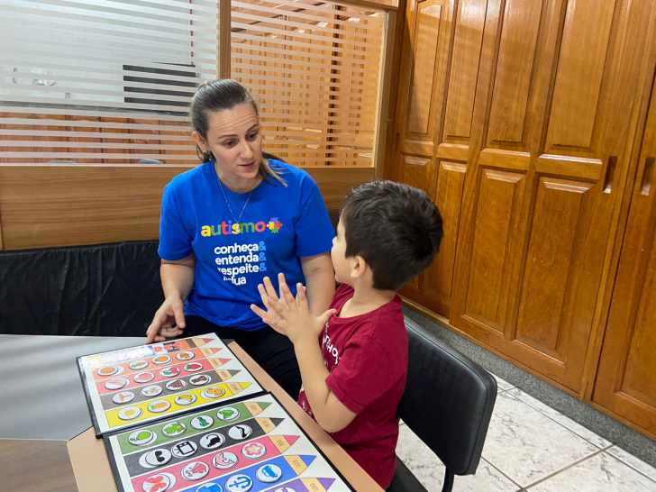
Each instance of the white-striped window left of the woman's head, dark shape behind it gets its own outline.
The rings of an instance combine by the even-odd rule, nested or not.
[[[0,162],[197,163],[216,2],[0,0]]]

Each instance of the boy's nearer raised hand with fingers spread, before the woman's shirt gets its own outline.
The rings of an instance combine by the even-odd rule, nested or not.
[[[269,296],[266,299],[265,305],[269,306],[267,312],[264,312],[256,305],[251,305],[251,309],[262,318],[262,321],[268,323],[278,333],[287,335],[289,340],[295,345],[297,342],[305,340],[316,342],[323,330],[323,325],[336,311],[329,309],[321,316],[314,316],[307,304],[303,284],[299,283],[296,285],[297,293],[295,299],[289,287],[287,287],[283,274],[279,274],[278,279],[280,280],[280,298],[275,296],[274,290],[274,296]]]

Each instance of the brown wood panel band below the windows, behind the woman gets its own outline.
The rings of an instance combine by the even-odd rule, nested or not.
[[[162,190],[192,167],[0,165],[4,249],[157,239]],[[306,170],[329,208],[374,177],[373,168]]]

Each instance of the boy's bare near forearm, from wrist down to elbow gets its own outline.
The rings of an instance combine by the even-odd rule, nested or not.
[[[294,350],[298,368],[301,369],[305,396],[316,422],[329,433],[341,431],[351,424],[357,414],[343,405],[326,385],[325,380],[330,376],[330,371],[323,364],[318,340],[304,337],[294,343]]]

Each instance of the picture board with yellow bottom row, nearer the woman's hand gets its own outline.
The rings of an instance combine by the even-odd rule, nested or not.
[[[77,359],[96,436],[263,391],[209,333]]]

